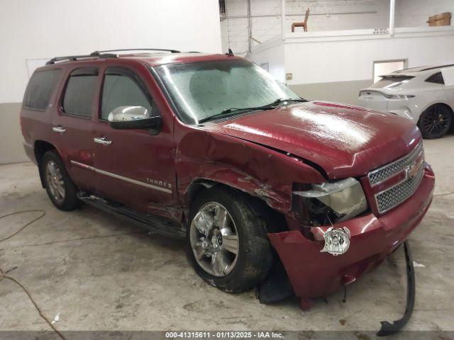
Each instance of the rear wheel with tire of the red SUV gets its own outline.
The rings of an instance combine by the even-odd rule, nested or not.
[[[44,154],[40,162],[40,171],[45,191],[55,207],[64,211],[79,207],[77,187],[72,183],[57,152],[50,150]]]

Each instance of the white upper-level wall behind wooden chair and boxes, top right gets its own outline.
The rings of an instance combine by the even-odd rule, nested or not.
[[[281,35],[281,0],[250,0],[253,16],[253,37],[260,42]],[[325,30],[358,30],[365,28],[387,28],[389,26],[389,0],[286,0],[286,32],[292,23],[303,21],[306,8],[310,9],[309,32]],[[233,52],[248,51],[248,19],[231,18],[246,16],[247,0],[226,0],[228,17],[221,22],[222,50],[228,46]],[[348,13],[318,15],[319,13]],[[362,12],[362,13],[360,13]],[[376,13],[364,13],[376,12]],[[396,0],[396,27],[426,27],[429,16],[451,12],[454,15],[454,0]],[[356,13],[356,14],[355,14]],[[274,15],[254,18],[254,16]],[[301,14],[301,16],[294,16]],[[454,18],[451,26],[454,25]],[[301,31],[302,28],[297,28]],[[230,43],[229,43],[230,42]],[[254,42],[258,45],[257,42]]]

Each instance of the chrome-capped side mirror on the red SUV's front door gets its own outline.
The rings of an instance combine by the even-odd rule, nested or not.
[[[160,115],[151,116],[143,106],[118,106],[109,113],[109,125],[117,130],[127,129],[159,129],[162,118]]]

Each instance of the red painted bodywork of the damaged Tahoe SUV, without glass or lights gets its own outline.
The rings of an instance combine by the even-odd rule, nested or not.
[[[381,217],[367,186],[368,171],[407,154],[421,140],[417,128],[404,118],[335,103],[298,103],[262,111],[225,123],[203,127],[181,123],[148,67],[169,62],[225,60],[226,55],[162,55],[62,62],[47,68],[63,69],[64,77],[45,112],[23,110],[21,126],[26,152],[35,160],[35,142],[55,146],[73,181],[80,188],[118,200],[140,212],[182,221],[189,209],[189,188],[209,180],[223,183],[265,200],[287,220],[289,232],[270,234],[301,297],[326,295],[341,278],[359,277],[377,266],[403,242],[428,208],[433,174],[426,169],[414,196]],[[236,57],[235,57],[236,58]],[[162,131],[114,130],[99,120],[99,100],[106,67],[126,67],[142,79],[162,114]],[[67,76],[77,67],[99,67],[92,117],[64,115],[60,96]],[[65,134],[52,132],[61,125]],[[112,145],[93,142],[106,136]],[[71,164],[81,162],[146,182],[170,183],[172,193],[150,190]],[[316,166],[314,167],[314,164]],[[350,249],[341,256],[320,253],[323,228],[312,228],[317,242],[301,232],[291,210],[292,183],[322,183],[327,179],[360,177],[372,213],[340,226],[352,234]],[[423,207],[423,208],[421,208]]]

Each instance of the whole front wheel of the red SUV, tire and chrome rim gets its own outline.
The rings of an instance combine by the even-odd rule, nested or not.
[[[189,215],[187,244],[196,273],[227,292],[256,287],[272,265],[265,221],[229,188],[217,186],[197,196]]]

